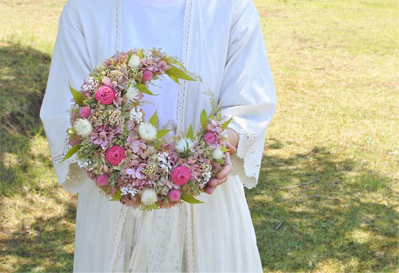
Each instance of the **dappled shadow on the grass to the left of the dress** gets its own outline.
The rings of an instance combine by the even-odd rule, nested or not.
[[[75,201],[56,187],[39,118],[51,57],[0,46],[0,271],[70,272]]]

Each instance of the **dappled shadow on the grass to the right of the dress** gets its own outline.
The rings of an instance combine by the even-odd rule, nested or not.
[[[267,149],[285,145],[272,140]],[[284,158],[264,155],[262,166],[259,185],[247,190],[246,196],[263,270],[392,272],[397,268],[398,205],[388,177],[326,147]],[[314,182],[279,189],[309,181]]]

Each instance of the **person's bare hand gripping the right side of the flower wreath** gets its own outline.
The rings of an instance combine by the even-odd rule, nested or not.
[[[222,170],[220,170],[216,178],[211,179],[211,181],[209,181],[208,186],[205,188],[205,192],[207,194],[211,194],[212,192],[214,192],[216,187],[218,187],[218,185],[226,182],[227,176],[229,175],[229,173],[233,168],[231,164],[230,154],[235,153],[235,151],[237,151],[238,134],[232,129],[229,129],[227,131],[227,135],[229,135],[229,138],[227,140],[226,148],[228,148],[229,151],[226,153],[226,157],[224,157],[224,165],[222,167]]]

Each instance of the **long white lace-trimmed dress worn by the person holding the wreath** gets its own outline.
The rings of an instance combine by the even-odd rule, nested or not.
[[[250,0],[159,1],[149,2],[161,10],[170,5],[182,9],[176,14],[176,21],[181,23],[168,30],[177,34],[180,28],[182,46],[172,46],[170,52],[181,51],[176,54],[189,70],[201,75],[207,88],[223,103],[224,114],[233,116],[231,127],[240,135],[233,174],[214,194],[201,195],[205,204],[142,212],[107,201],[77,168],[74,158],[61,162],[68,150],[68,81],[80,86],[90,70],[116,50],[149,47],[145,42],[154,37],[135,37],[141,35],[131,28],[135,20],[168,25],[159,16],[144,16],[144,2],[138,0],[68,1],[60,18],[40,116],[58,180],[66,190],[79,192],[74,271],[261,272],[243,187],[243,183],[248,187],[256,184],[264,135],[275,108],[259,16]],[[131,10],[131,6],[142,12]],[[149,35],[156,31],[151,25],[146,25]],[[155,36],[166,40],[163,37]],[[178,39],[172,35],[169,38]],[[153,46],[168,52],[170,44],[166,41]],[[202,88],[198,83],[185,82],[174,91],[177,103],[171,117],[175,115],[177,120],[177,133],[186,131],[190,124],[198,128],[198,114],[202,109],[209,112]],[[170,103],[156,106],[171,109]]]

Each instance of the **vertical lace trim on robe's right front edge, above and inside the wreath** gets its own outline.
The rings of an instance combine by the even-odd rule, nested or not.
[[[188,62],[188,42],[190,38],[192,0],[185,3],[184,23],[183,23],[183,44],[181,47],[181,61],[185,67]],[[183,81],[179,88],[179,96],[177,101],[177,135],[183,134],[183,114],[185,105],[185,93],[187,92],[187,81]]]

